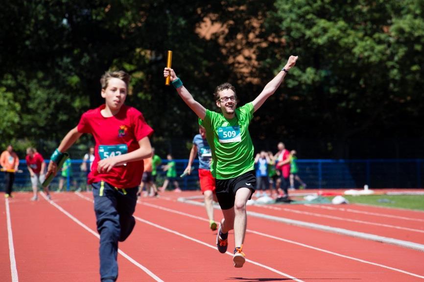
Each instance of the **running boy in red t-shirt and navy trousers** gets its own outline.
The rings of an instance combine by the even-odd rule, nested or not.
[[[94,212],[100,234],[100,280],[118,277],[118,241],[124,241],[135,225],[133,213],[143,174],[143,159],[152,154],[153,130],[135,108],[124,105],[130,75],[107,71],[100,79],[105,104],[81,116],[51,155],[47,175],[56,174],[57,162],[83,133],[93,134],[94,162],[88,175],[93,187]]]

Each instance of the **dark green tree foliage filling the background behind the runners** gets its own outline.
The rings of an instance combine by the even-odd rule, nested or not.
[[[143,112],[156,141],[190,138],[196,116],[164,86],[168,49],[210,109],[216,85],[236,85],[244,104],[299,55],[256,112],[257,139],[422,138],[423,12],[423,0],[6,1],[0,145],[60,140],[102,103],[107,69],[132,74],[127,104]]]

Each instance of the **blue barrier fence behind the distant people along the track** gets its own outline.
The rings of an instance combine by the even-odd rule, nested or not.
[[[191,175],[180,178],[187,166],[187,159],[174,160],[177,169],[177,180],[183,190],[197,190],[198,161]],[[168,161],[163,160],[163,165]],[[86,172],[80,170],[82,161],[71,160],[72,174],[66,177],[64,189],[85,190]],[[424,175],[424,159],[365,159],[365,160],[329,160],[302,159],[298,160],[299,176],[307,184],[307,188],[362,188],[367,184],[370,188],[422,188]],[[15,176],[14,190],[31,190],[29,172],[24,160],[20,161],[19,169],[23,173]],[[157,185],[161,186],[166,177],[161,167],[158,168]],[[51,190],[58,188],[60,172],[50,185]],[[172,189],[172,183],[168,185]],[[0,189],[4,191],[4,173],[0,173]]]

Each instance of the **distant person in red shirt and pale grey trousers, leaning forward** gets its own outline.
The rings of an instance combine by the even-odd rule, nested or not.
[[[26,167],[28,168],[29,174],[31,175],[31,184],[33,196],[31,201],[38,200],[38,182],[42,184],[46,179],[46,163],[44,162],[43,156],[36,152],[34,148],[26,149]],[[48,192],[48,186],[44,188],[44,192],[50,199],[50,193]]]

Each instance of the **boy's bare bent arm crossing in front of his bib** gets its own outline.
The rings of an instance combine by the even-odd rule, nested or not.
[[[149,137],[144,137],[139,140],[140,148],[126,154],[102,159],[97,164],[99,173],[108,173],[115,166],[120,166],[125,163],[140,161],[152,155],[152,146],[150,145]]]

